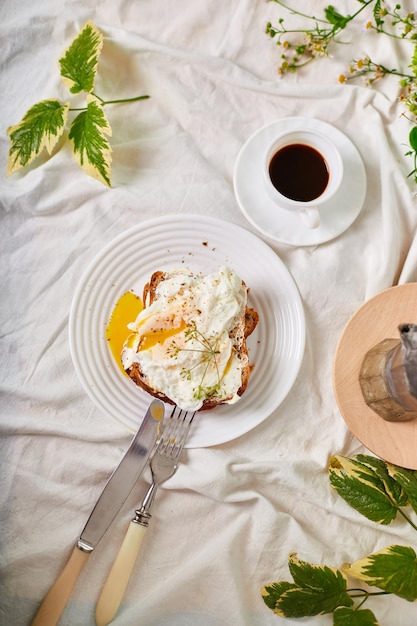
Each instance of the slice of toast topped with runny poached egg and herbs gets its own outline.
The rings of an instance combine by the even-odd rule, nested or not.
[[[208,282],[213,293],[205,293],[206,282],[199,285],[199,281]],[[219,288],[223,290],[221,297],[215,293]],[[230,295],[233,288],[236,293]],[[129,325],[135,331],[134,341],[129,339],[133,347],[124,348],[122,352],[122,361],[130,378],[152,396],[177,404],[184,410],[208,410],[236,402],[245,392],[251,372],[246,339],[258,323],[257,312],[247,306],[247,291],[245,283],[228,268],[221,268],[218,276],[214,273],[208,277],[183,269],[154,272],[143,290],[144,310],[136,322]],[[222,298],[231,302],[231,307],[226,306],[224,320],[215,308],[222,310]],[[211,309],[208,307],[208,317],[212,315],[216,330],[207,325],[203,311],[205,302],[211,304],[212,299],[215,305]],[[218,331],[219,320],[223,324],[221,333]],[[149,344],[151,347],[147,348]],[[152,351],[154,358],[151,359]],[[161,376],[156,369],[158,359]],[[177,360],[181,362],[178,367]],[[206,384],[206,372],[210,370],[216,372],[216,384]],[[177,377],[184,398],[176,389],[171,393],[169,385],[165,386],[167,376],[174,382]],[[162,382],[155,383],[155,378]],[[193,400],[189,389],[192,386]]]

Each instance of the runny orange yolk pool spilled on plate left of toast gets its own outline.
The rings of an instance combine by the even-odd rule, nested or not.
[[[116,302],[106,327],[106,339],[109,348],[118,367],[125,376],[127,374],[123,369],[120,357],[123,344],[131,334],[127,325],[136,319],[142,309],[142,300],[132,291],[127,291]]]

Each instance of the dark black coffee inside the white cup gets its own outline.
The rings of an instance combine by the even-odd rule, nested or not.
[[[274,154],[269,176],[283,196],[301,202],[321,196],[329,182],[324,157],[315,148],[301,143],[284,146]]]

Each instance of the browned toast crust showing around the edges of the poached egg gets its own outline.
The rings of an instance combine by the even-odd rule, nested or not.
[[[156,271],[152,274],[149,282],[145,285],[143,289],[143,304],[145,308],[149,307],[155,301],[157,297],[156,296],[157,287],[160,282],[165,280],[166,277],[167,277],[167,273],[162,272],[162,271]],[[239,358],[246,361],[246,363],[244,367],[242,368],[242,384],[237,392],[238,396],[242,396],[242,394],[245,392],[247,385],[248,385],[250,372],[251,372],[251,366],[249,365],[249,360],[248,360],[248,348],[246,345],[246,339],[255,330],[256,325],[258,324],[258,321],[259,321],[258,313],[254,309],[250,307],[246,307],[244,320],[241,320],[241,322],[243,322],[244,324],[243,338],[242,338],[241,344],[239,345],[239,350],[238,350]],[[234,332],[235,332],[235,329],[231,329],[229,333],[230,337],[233,337]],[[127,371],[127,374],[130,376],[130,378],[133,380],[133,382],[136,385],[138,385],[138,387],[141,387],[142,389],[144,389],[144,391],[154,396],[155,398],[159,398],[163,402],[166,402],[168,404],[175,404],[173,400],[168,398],[163,392],[159,391],[158,389],[153,389],[147,384],[146,377],[141,371],[138,363],[133,363],[132,366],[126,371]],[[206,398],[203,401],[203,406],[199,410],[204,411],[204,410],[214,409],[220,404],[225,404],[230,399],[231,398],[229,397],[222,398],[221,400],[216,399],[216,398]]]

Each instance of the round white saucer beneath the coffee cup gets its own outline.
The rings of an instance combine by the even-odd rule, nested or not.
[[[309,228],[297,215],[278,207],[268,196],[262,171],[267,145],[285,131],[319,130],[339,148],[344,166],[339,191],[320,209],[320,225]],[[233,183],[239,207],[246,219],[263,235],[280,243],[311,246],[334,239],[359,215],[366,193],[366,174],[353,143],[334,126],[308,117],[287,117],[257,130],[242,147],[235,165]]]

